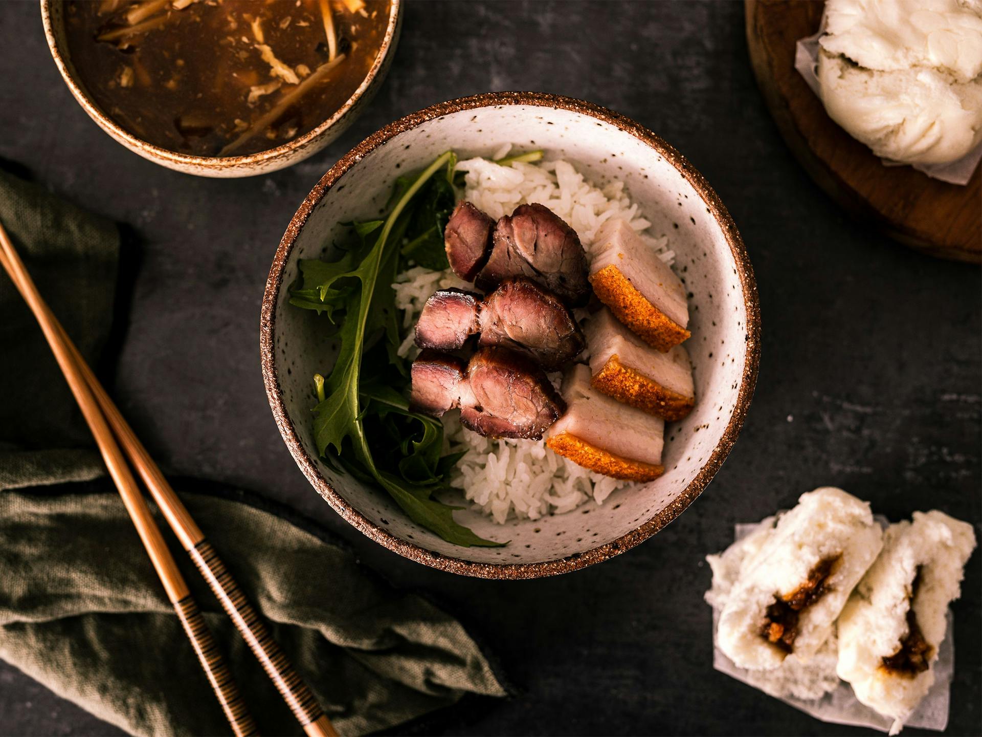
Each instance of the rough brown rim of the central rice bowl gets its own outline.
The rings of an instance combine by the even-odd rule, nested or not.
[[[664,156],[666,160],[670,161],[686,181],[692,185],[695,191],[699,193],[706,207],[709,208],[711,214],[723,228],[727,243],[730,244],[730,250],[736,261],[736,270],[743,287],[743,305],[746,310],[746,364],[740,380],[734,414],[730,419],[729,425],[724,430],[719,443],[717,443],[713,452],[710,454],[709,460],[706,461],[695,478],[689,482],[682,490],[682,493],[667,507],[626,535],[611,542],[598,545],[585,552],[575,553],[559,560],[538,563],[475,563],[451,555],[443,555],[432,550],[426,550],[404,539],[399,539],[366,519],[348,501],[338,494],[330,483],[326,482],[320,476],[314,464],[314,459],[310,458],[300,444],[297,429],[291,423],[290,418],[287,416],[286,408],[283,406],[283,397],[280,390],[280,382],[276,375],[274,358],[276,347],[274,313],[277,296],[283,284],[284,264],[287,262],[291,251],[293,251],[300,228],[306,222],[314,206],[324,197],[327,191],[369,151],[404,131],[415,128],[426,121],[434,120],[461,110],[505,105],[550,107],[570,110],[597,118],[647,143]],[[294,459],[297,461],[300,470],[306,476],[307,480],[327,500],[334,510],[355,527],[356,530],[410,560],[438,568],[442,571],[487,579],[533,579],[585,568],[586,566],[607,560],[628,550],[639,542],[650,538],[676,519],[692,503],[695,497],[702,492],[730,453],[730,449],[736,441],[736,435],[739,433],[739,429],[743,425],[743,420],[746,417],[750,399],[753,396],[753,389],[757,380],[757,367],[760,362],[760,305],[757,299],[757,283],[753,276],[753,269],[750,266],[750,259],[746,254],[746,249],[743,247],[742,240],[740,240],[739,233],[736,231],[736,224],[733,218],[702,175],[692,168],[692,165],[674,147],[662,141],[654,133],[629,118],[591,102],[584,102],[573,99],[572,97],[564,97],[545,92],[487,92],[471,97],[462,97],[448,102],[441,102],[418,112],[411,113],[394,123],[390,123],[385,128],[382,128],[364,141],[358,143],[321,178],[320,182],[314,186],[310,194],[300,204],[300,208],[297,210],[297,214],[294,215],[293,220],[290,221],[290,225],[283,235],[283,240],[280,241],[280,247],[276,251],[276,256],[273,258],[273,265],[270,268],[269,278],[266,281],[266,292],[262,299],[259,347],[262,356],[262,377],[266,385],[266,394],[269,397],[269,404],[273,410],[276,425],[280,428],[280,433],[283,435],[287,447],[290,448],[290,452],[293,454]]]

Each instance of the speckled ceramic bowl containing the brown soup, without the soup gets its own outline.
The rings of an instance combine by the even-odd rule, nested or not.
[[[156,164],[199,177],[217,178],[251,177],[292,166],[341,136],[355,122],[382,85],[389,67],[392,66],[403,21],[403,0],[392,0],[389,25],[368,75],[340,110],[309,133],[275,148],[245,156],[191,156],[142,141],[102,112],[88,96],[72,65],[65,40],[63,0],[40,0],[40,3],[44,35],[48,39],[48,47],[51,49],[55,64],[58,65],[58,71],[61,72],[65,84],[72,90],[72,94],[79,100],[84,111],[88,113],[88,117],[94,120],[99,128],[131,151]]]

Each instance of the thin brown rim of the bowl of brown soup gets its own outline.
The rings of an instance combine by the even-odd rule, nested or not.
[[[62,79],[65,80],[65,84],[68,85],[69,89],[72,91],[72,95],[79,101],[79,103],[85,109],[85,112],[91,117],[96,118],[101,126],[110,129],[114,138],[125,141],[129,145],[138,148],[144,153],[152,155],[154,159],[161,159],[173,164],[200,166],[206,169],[232,169],[242,165],[254,165],[261,164],[266,161],[274,161],[294,150],[305,148],[307,144],[315,141],[331,126],[344,118],[348,114],[349,110],[351,110],[355,105],[355,102],[357,102],[361,95],[364,94],[365,90],[368,88],[368,85],[371,85],[372,81],[378,74],[379,69],[382,67],[386,56],[388,56],[390,53],[392,41],[395,37],[396,28],[398,27],[403,8],[403,0],[390,0],[392,4],[389,10],[389,24],[385,29],[385,36],[382,38],[382,45],[379,46],[378,53],[375,55],[375,60],[372,62],[371,69],[368,70],[368,74],[365,75],[365,78],[361,81],[361,84],[357,86],[355,91],[352,93],[352,96],[345,101],[345,104],[338,108],[338,110],[330,118],[325,120],[316,128],[308,131],[302,136],[297,137],[293,141],[282,143],[275,148],[267,148],[264,151],[256,151],[255,153],[248,153],[243,156],[191,156],[187,153],[172,151],[170,148],[162,148],[158,145],[154,145],[153,143],[148,143],[142,139],[136,138],[136,136],[119,126],[112,118],[102,112],[102,108],[95,103],[95,100],[93,100],[84,89],[82,89],[82,85],[76,82],[74,67],[73,71],[70,71],[65,59],[62,58],[61,50],[59,49],[57,39],[55,38],[54,28],[51,25],[51,5],[55,2],[64,3],[64,0],[40,0],[41,23],[44,26],[44,37],[47,39],[48,50],[51,51],[51,56],[55,60],[55,65],[58,67],[58,71],[61,73]]]

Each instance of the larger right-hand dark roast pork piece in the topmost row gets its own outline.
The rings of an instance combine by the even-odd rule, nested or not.
[[[569,305],[586,304],[586,253],[576,231],[545,205],[518,205],[498,220],[491,241],[491,255],[474,282],[478,289],[490,292],[510,276],[524,276]]]

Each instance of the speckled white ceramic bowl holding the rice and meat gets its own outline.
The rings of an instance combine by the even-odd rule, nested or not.
[[[665,475],[615,491],[568,514],[499,526],[472,511],[458,521],[504,547],[460,547],[409,521],[385,494],[339,476],[317,457],[311,376],[333,360],[312,312],[292,308],[288,289],[300,258],[331,256],[343,222],[383,211],[393,181],[447,148],[489,155],[503,143],[566,158],[594,183],[621,179],[666,234],[691,292],[685,343],[696,407],[666,427]],[[723,202],[675,148],[627,118],[587,102],[496,92],[413,113],[358,144],[300,205],[277,249],[262,302],[262,372],[283,438],[314,488],[371,539],[435,568],[486,578],[535,578],[606,560],[657,533],[706,487],[736,440],[757,375],[760,317],[746,251]],[[463,499],[462,499],[463,501]]]

